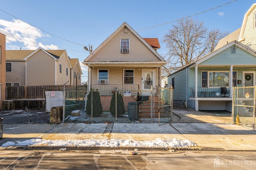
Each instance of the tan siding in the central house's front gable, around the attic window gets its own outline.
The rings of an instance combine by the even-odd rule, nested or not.
[[[129,53],[120,53],[120,39],[130,39]],[[131,32],[126,34],[120,31],[90,61],[159,61],[159,59]]]

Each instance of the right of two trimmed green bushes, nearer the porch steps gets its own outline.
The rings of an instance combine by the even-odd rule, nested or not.
[[[117,100],[116,100],[117,98]],[[116,102],[117,102],[117,109],[116,109]],[[110,101],[110,113],[114,116],[116,116],[116,110],[117,110],[117,116],[120,117],[125,113],[124,109],[124,100],[123,96],[120,93],[113,93],[111,101]]]

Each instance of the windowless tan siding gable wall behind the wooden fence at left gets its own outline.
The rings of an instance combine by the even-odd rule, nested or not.
[[[38,85],[55,85],[55,61],[42,50],[27,60],[27,86]]]

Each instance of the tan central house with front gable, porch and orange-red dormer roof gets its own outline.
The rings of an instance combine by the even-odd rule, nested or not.
[[[130,92],[124,103],[136,102],[138,89],[149,96],[151,86],[160,86],[161,67],[166,61],[156,52],[158,39],[143,39],[124,22],[84,60],[88,66],[88,90]],[[101,95],[109,108],[112,93]]]

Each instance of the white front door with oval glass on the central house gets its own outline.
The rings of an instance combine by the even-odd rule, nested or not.
[[[151,86],[155,87],[154,70],[142,70],[142,96],[150,96]]]

